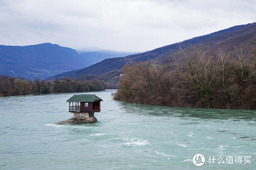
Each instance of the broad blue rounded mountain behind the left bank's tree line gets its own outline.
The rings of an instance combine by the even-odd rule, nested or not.
[[[26,79],[45,79],[69,70],[92,65],[76,50],[57,44],[0,46],[0,74]]]

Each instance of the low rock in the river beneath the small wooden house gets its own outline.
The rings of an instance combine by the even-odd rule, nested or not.
[[[96,122],[97,122],[97,119],[94,116],[90,116],[89,118],[80,118],[76,116],[68,120],[60,121],[56,124],[88,124],[88,123],[96,123]]]

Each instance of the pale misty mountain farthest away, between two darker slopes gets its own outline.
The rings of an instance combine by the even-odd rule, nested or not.
[[[134,52],[104,50],[96,47],[87,47],[83,49],[78,49],[76,51],[78,51],[78,53],[86,60],[91,61],[92,64],[99,63],[105,59],[124,57],[130,54],[135,54]]]

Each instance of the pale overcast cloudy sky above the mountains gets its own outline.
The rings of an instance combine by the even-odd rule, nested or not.
[[[0,0],[0,44],[146,51],[256,21],[256,0]]]

